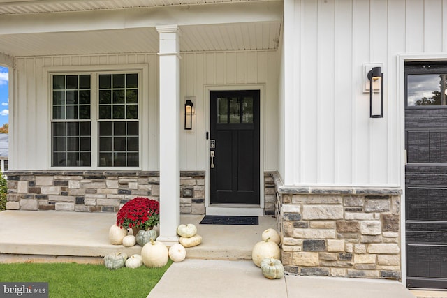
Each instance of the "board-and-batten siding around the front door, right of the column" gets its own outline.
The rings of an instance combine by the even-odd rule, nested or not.
[[[277,52],[199,52],[182,54],[180,93],[195,96],[193,130],[180,135],[180,168],[205,170],[208,166],[209,94],[213,89],[262,88],[261,98],[261,167],[277,168]],[[261,94],[262,97],[262,94]],[[183,101],[184,103],[184,101]],[[182,105],[183,106],[183,105]],[[183,117],[183,116],[182,116]],[[184,124],[184,119],[181,121]],[[263,151],[263,152],[262,152]]]

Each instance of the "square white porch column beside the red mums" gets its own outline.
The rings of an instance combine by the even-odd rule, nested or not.
[[[180,223],[180,43],[177,25],[157,26],[160,34],[160,236],[166,245],[178,242]]]

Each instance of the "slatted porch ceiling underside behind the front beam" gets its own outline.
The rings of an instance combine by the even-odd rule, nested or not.
[[[182,26],[181,51],[276,49],[280,28],[280,22]],[[0,52],[17,57],[158,51],[154,27],[0,35]]]

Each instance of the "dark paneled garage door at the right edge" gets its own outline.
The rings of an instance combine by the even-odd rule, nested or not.
[[[406,64],[406,283],[447,288],[447,62]]]

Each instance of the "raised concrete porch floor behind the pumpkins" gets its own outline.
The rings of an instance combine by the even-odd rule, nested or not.
[[[180,216],[181,223],[193,223],[203,237],[202,244],[187,248],[188,259],[251,260],[251,250],[256,242],[261,241],[262,232],[267,228],[277,228],[276,219],[271,216],[260,217],[259,225],[236,226],[200,225],[202,218],[197,215]],[[138,245],[125,248],[109,243],[108,230],[115,221],[114,213],[2,211],[0,263],[102,263],[103,256],[108,253],[141,253]],[[175,265],[184,266],[182,263]],[[447,292],[437,291],[415,291],[413,295],[447,298]]]

